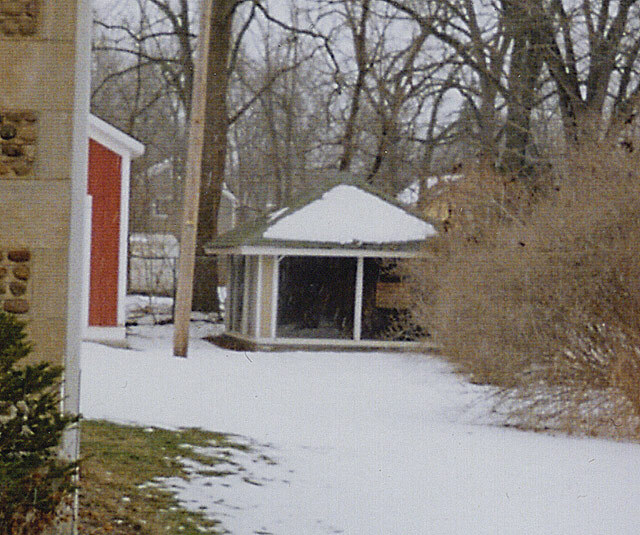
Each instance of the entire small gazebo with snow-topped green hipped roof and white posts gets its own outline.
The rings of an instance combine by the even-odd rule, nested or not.
[[[265,346],[416,344],[388,338],[407,303],[394,268],[426,255],[435,234],[351,181],[228,232],[206,247],[229,259],[227,334]]]

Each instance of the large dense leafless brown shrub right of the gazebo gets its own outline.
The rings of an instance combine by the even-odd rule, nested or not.
[[[580,430],[598,414],[635,431],[639,163],[604,144],[583,147],[533,189],[468,170],[451,186],[455,210],[432,245],[436,260],[413,268],[418,288],[433,292],[413,321],[473,380],[507,389],[511,407],[516,392],[540,425]]]

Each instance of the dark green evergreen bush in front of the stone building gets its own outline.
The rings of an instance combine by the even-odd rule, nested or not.
[[[0,312],[0,533],[35,535],[52,525],[72,492],[73,463],[59,456],[62,369],[25,364],[25,325]]]

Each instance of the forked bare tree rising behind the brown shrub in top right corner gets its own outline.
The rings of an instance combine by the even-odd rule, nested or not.
[[[542,51],[567,139],[615,133],[640,95],[640,3],[584,0],[570,8],[556,0],[539,9]]]

